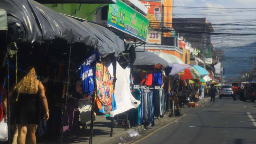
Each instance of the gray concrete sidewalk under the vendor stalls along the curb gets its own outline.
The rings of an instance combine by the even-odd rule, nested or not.
[[[205,97],[198,102],[198,106],[200,107],[203,104],[209,102],[210,97]],[[189,109],[182,108],[183,113],[186,113]],[[178,117],[169,117],[169,113],[166,113],[163,118],[155,117],[155,125],[163,125],[165,123],[169,123],[172,120],[175,120]],[[104,115],[96,116],[96,120],[93,125],[93,144],[113,144],[120,142],[120,137],[123,139],[129,137],[129,134],[125,130],[125,127],[119,126],[119,128],[113,128],[113,137],[110,137],[111,130],[111,121],[106,120]],[[139,133],[145,129],[143,125],[133,126],[132,129],[135,129]],[[89,135],[90,135],[90,124],[87,129],[80,129],[74,135],[69,135],[68,137],[63,138],[63,143],[78,143],[78,144],[89,144]]]

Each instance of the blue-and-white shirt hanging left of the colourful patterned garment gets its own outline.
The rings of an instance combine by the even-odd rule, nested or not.
[[[92,94],[94,88],[93,79],[95,75],[95,65],[96,62],[100,60],[100,55],[98,52],[92,52],[91,56],[87,58],[81,66],[80,77],[83,83],[83,93]]]

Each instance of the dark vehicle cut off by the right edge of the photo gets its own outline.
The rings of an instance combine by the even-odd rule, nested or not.
[[[256,100],[256,83],[248,83],[244,87],[244,98],[243,101],[250,99],[252,102]]]

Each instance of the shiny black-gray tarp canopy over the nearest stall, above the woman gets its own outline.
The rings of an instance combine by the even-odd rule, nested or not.
[[[33,0],[2,0],[1,8],[7,12],[9,42],[10,40],[23,43],[64,40],[69,44],[82,43],[97,48],[103,57],[110,53],[114,53],[117,57],[125,49],[124,42],[115,34],[108,32],[106,37],[97,29],[91,29],[99,25],[82,23]],[[119,40],[110,40],[109,37],[114,37],[112,34]]]

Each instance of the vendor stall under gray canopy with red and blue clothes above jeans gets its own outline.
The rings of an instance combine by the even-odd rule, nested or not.
[[[140,100],[137,109],[136,124],[154,126],[154,117],[166,113],[166,95],[164,89],[165,73],[169,74],[169,63],[151,52],[136,52],[133,64],[133,95]]]

